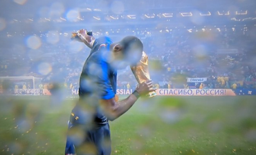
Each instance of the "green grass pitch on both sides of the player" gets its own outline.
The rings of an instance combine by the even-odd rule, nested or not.
[[[1,96],[0,154],[64,154],[76,100]],[[110,122],[112,154],[256,154],[255,111],[256,96],[139,99]]]

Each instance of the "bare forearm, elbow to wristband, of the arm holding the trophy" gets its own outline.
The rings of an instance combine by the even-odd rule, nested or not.
[[[134,105],[136,101],[137,101],[137,97],[134,94],[129,95],[127,99],[118,101],[111,110],[112,114],[109,120],[113,121],[119,116],[121,116],[122,114],[125,114],[125,112],[127,112],[132,107],[132,105]]]

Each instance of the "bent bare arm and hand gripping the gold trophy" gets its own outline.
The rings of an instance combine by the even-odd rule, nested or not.
[[[132,105],[137,101],[140,95],[145,95],[148,92],[154,91],[152,81],[140,83],[136,90],[122,101],[115,101],[115,98],[108,100],[101,100],[100,105],[104,110],[104,114],[109,121],[113,121],[122,114],[125,114]]]

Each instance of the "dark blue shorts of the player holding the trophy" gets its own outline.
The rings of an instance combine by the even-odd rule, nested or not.
[[[65,155],[110,155],[109,123],[87,130],[81,124],[68,121]]]

